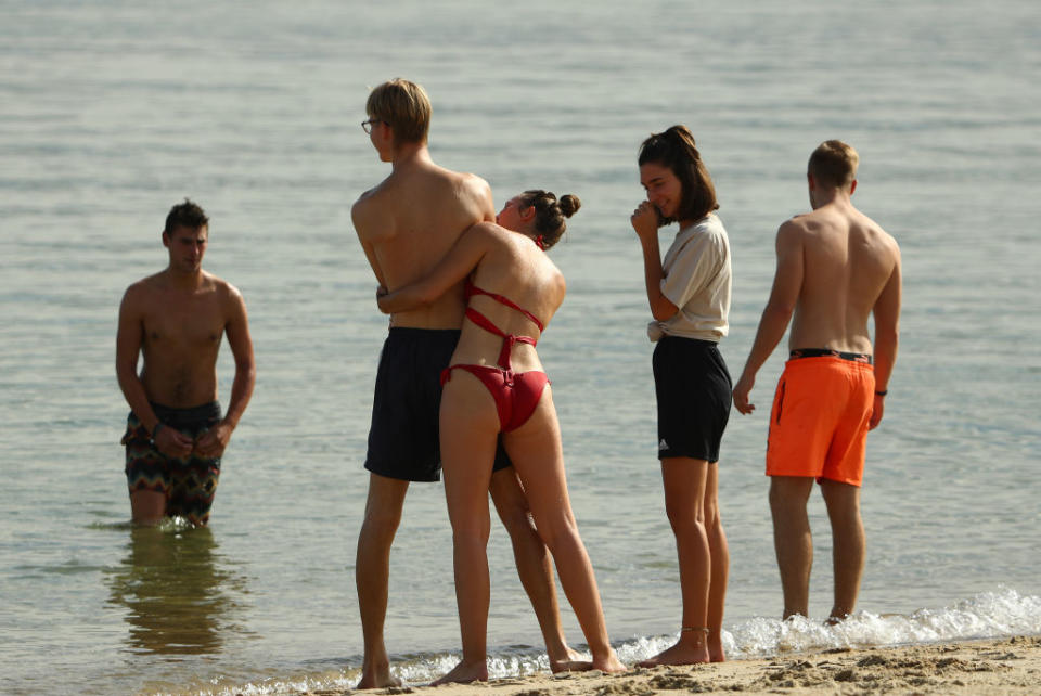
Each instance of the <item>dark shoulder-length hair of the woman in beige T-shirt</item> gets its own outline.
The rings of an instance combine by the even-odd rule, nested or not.
[[[671,169],[682,186],[683,199],[677,208],[676,218],[663,219],[663,224],[676,220],[701,220],[719,209],[712,178],[686,126],[672,126],[644,140],[640,145],[639,164],[643,166],[648,162]]]

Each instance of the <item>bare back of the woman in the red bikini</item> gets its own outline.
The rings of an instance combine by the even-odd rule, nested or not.
[[[467,235],[480,235],[485,248],[472,276],[477,287],[507,297],[517,306],[535,314],[542,325],[550,323],[564,301],[564,275],[545,252],[524,234],[511,232],[497,224],[479,224]],[[490,297],[475,295],[470,306],[486,315],[503,333],[531,336],[538,339],[540,331],[530,319]],[[494,365],[502,347],[502,338],[463,322],[463,334],[452,356],[453,363]],[[512,365],[517,372],[541,370],[534,346],[516,344]]]

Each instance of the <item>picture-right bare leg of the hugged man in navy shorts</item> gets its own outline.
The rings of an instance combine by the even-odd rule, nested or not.
[[[553,583],[553,566],[528,508],[516,471],[510,466],[491,475],[491,500],[499,518],[510,533],[513,556],[517,564],[520,584],[531,601],[535,616],[542,630],[550,669],[554,672],[569,669],[578,653],[567,646],[561,626],[561,610]]]

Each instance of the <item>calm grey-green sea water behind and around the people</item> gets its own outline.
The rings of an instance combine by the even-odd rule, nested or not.
[[[358,124],[368,89],[397,75],[433,98],[435,158],[484,176],[498,204],[534,186],[582,198],[553,252],[568,299],[539,348],[625,659],[679,619],[628,223],[637,146],[673,123],[697,137],[731,235],[735,374],[818,142],[859,149],[854,201],[904,255],[901,353],[863,490],[864,613],[838,630],[775,620],[762,460],[779,351],[760,411],[735,412],[723,442],[731,655],[1041,632],[1039,47],[1030,0],[0,2],[0,692],[357,678],[354,545],[386,320],[349,206],[388,171]],[[163,218],[185,195],[213,220],[206,267],[246,297],[258,382],[211,529],[132,530],[116,310],[164,266]],[[820,618],[819,498],[811,515]],[[414,486],[387,621],[410,681],[459,646],[450,547],[440,486]],[[501,529],[489,554],[493,672],[544,667]]]

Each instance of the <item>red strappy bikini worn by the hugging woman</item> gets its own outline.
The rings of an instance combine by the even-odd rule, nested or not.
[[[470,281],[466,281],[466,299],[474,295],[486,295],[500,305],[505,305],[515,309],[535,323],[541,332],[544,326],[538,317],[526,309],[515,305],[513,300],[502,295],[483,291]],[[542,391],[550,378],[544,372],[530,370],[528,372],[514,372],[510,366],[510,353],[514,344],[527,344],[535,346],[536,339],[530,336],[515,336],[514,334],[503,333],[491,321],[478,312],[476,309],[466,308],[466,319],[474,322],[485,331],[502,337],[502,350],[499,351],[498,368],[490,365],[470,365],[457,364],[446,368],[441,372],[441,384],[451,379],[452,370],[465,370],[478,379],[480,379],[491,397],[496,400],[496,409],[499,411],[499,427],[503,433],[515,430],[524,425],[535,409],[539,405],[539,399],[542,398]]]

